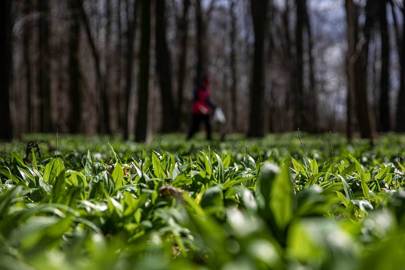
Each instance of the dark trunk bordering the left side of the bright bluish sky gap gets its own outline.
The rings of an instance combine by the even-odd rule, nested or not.
[[[304,10],[305,10],[306,0],[296,0],[297,8],[297,20],[295,26],[295,47],[296,47],[296,87],[294,87],[294,128],[299,127],[301,130],[307,131],[308,125],[304,117],[304,49],[303,43],[303,22],[304,22]]]

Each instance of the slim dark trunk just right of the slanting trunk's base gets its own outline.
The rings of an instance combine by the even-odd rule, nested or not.
[[[128,140],[129,136],[129,109],[132,89],[132,74],[134,65],[134,39],[136,34],[136,22],[138,13],[138,0],[134,2],[133,15],[129,13],[127,6],[127,49],[126,49],[126,67],[125,67],[125,122],[124,122],[124,139]]]

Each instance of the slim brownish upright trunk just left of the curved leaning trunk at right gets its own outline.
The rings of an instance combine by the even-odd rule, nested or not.
[[[352,0],[346,0],[347,20],[347,126],[346,136],[349,142],[353,139],[353,93],[355,87],[355,50],[356,50],[356,11]]]

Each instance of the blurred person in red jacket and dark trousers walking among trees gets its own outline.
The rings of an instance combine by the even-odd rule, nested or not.
[[[211,91],[209,88],[210,78],[204,76],[203,80],[197,85],[194,91],[192,123],[187,136],[190,140],[195,132],[198,131],[201,121],[204,122],[207,132],[207,140],[211,140],[211,120],[210,115],[215,105],[211,102]]]

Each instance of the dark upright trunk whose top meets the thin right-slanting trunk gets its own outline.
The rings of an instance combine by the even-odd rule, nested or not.
[[[82,74],[79,65],[79,40],[80,40],[80,7],[76,1],[69,1],[70,29],[69,29],[69,97],[70,119],[69,129],[72,133],[80,132],[82,119],[82,87],[80,81]]]

